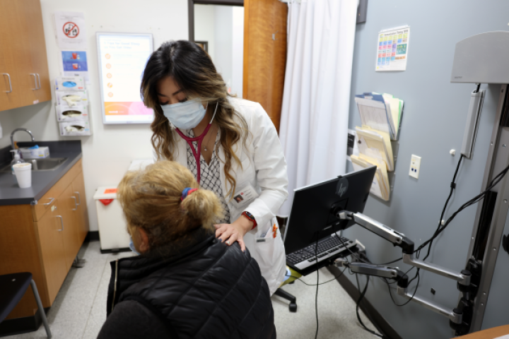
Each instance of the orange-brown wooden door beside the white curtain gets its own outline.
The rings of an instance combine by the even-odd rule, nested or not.
[[[244,1],[243,97],[259,102],[279,131],[286,67],[288,5]]]

